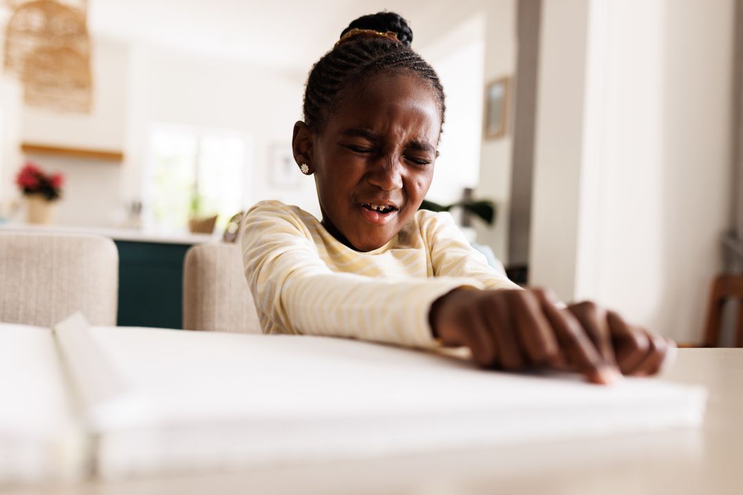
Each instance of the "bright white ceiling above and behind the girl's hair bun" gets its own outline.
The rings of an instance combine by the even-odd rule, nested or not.
[[[94,36],[227,56],[302,71],[330,50],[348,22],[380,10],[409,20],[413,47],[452,27],[478,0],[89,0]]]

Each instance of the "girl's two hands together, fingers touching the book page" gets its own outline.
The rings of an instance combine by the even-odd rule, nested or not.
[[[543,289],[455,289],[431,307],[434,335],[466,346],[483,367],[550,368],[609,384],[617,372],[658,373],[673,341],[627,324],[592,302],[565,309]]]

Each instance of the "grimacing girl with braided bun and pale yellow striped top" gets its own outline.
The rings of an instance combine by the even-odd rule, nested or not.
[[[418,211],[445,106],[411,42],[398,14],[363,16],[312,68],[292,147],[322,221],[265,201],[241,235],[263,331],[465,346],[483,367],[568,368],[600,384],[657,373],[671,341],[596,304],[519,289],[450,214]]]

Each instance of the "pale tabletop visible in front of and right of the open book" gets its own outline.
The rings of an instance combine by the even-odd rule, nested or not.
[[[710,391],[704,427],[13,494],[740,494],[743,349],[682,349],[665,378]]]

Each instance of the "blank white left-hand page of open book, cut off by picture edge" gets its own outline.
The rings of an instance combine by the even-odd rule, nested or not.
[[[85,437],[52,332],[0,324],[0,484],[74,479]]]

